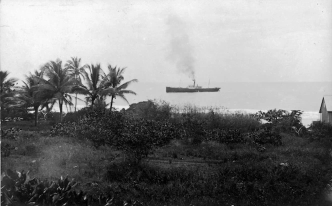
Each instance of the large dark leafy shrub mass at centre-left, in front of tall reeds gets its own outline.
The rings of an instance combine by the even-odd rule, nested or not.
[[[76,121],[57,123],[50,133],[88,139],[96,147],[114,145],[139,162],[153,149],[174,138],[175,130],[175,126],[165,120],[131,118],[123,112],[91,108]]]

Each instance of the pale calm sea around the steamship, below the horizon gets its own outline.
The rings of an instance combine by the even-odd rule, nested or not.
[[[138,82],[128,89],[137,95],[126,95],[129,103],[147,99],[164,100],[170,104],[225,107],[229,111],[256,112],[258,110],[302,110],[302,122],[308,125],[318,119],[323,95],[332,95],[332,82],[213,82],[209,87],[220,87],[219,92],[166,93],[166,86],[185,87],[191,82]],[[207,82],[203,82],[207,85]],[[85,106],[78,102],[79,107]],[[114,106],[127,108],[128,104],[114,99]],[[56,106],[54,105],[56,109]],[[58,109],[56,109],[58,110]]]

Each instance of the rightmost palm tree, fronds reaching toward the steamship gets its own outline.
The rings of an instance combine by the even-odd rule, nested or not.
[[[130,81],[121,84],[121,81],[124,79],[122,74],[124,72],[125,67],[120,69],[116,68],[116,66],[112,67],[110,64],[108,64],[107,68],[108,68],[108,74],[102,82],[105,88],[101,91],[101,94],[102,95],[108,94],[111,96],[110,109],[113,106],[113,99],[116,98],[116,96],[119,96],[129,104],[124,94],[130,93],[136,95],[136,93],[126,88],[128,87],[128,85],[130,85],[133,82],[137,82],[138,80],[134,78],[131,79]]]

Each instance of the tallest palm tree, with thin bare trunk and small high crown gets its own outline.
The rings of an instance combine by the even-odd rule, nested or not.
[[[80,58],[77,58],[76,56],[76,57],[71,57],[71,59],[68,60],[64,66],[68,69],[68,72],[71,73],[75,79],[77,79],[78,83],[81,84],[82,83],[81,77],[84,79],[85,68],[87,68],[88,65],[84,64],[83,66],[80,66]],[[75,91],[74,89],[74,93],[75,93],[75,112],[76,112],[78,91]]]

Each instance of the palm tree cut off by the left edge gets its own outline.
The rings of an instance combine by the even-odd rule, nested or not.
[[[17,78],[8,78],[9,72],[0,71],[0,101],[1,108],[15,106],[15,89],[14,85]],[[17,83],[16,83],[17,84]]]

